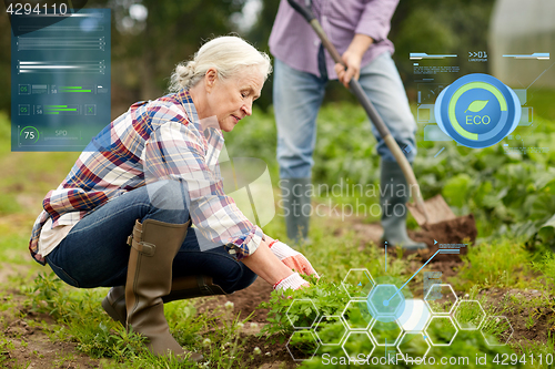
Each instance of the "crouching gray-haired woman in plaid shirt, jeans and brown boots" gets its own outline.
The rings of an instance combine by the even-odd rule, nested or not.
[[[172,93],[110,123],[44,197],[33,258],[73,287],[112,287],[102,307],[155,355],[185,353],[164,303],[231,294],[256,276],[296,289],[309,285],[297,271],[315,273],[223,192],[222,131],[252,114],[270,72],[268,55],[240,38],[206,42],[176,66]]]

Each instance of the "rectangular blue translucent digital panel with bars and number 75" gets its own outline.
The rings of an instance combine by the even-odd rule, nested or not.
[[[11,17],[13,152],[83,151],[110,123],[110,9]]]

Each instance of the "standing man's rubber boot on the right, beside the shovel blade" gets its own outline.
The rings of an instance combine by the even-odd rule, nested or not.
[[[417,243],[406,234],[406,203],[410,198],[410,188],[403,171],[396,162],[382,161],[381,167],[380,205],[384,230],[382,242],[410,250],[426,248],[425,243]]]

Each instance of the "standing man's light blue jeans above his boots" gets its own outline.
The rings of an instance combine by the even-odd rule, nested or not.
[[[273,100],[278,124],[278,162],[281,178],[311,176],[316,143],[316,115],[324,99],[327,78],[301,72],[275,59]],[[411,113],[403,82],[387,52],[361,70],[359,79],[408,162],[414,161],[416,123]],[[344,122],[349,124],[349,122]],[[383,161],[395,162],[377,130],[377,153]]]

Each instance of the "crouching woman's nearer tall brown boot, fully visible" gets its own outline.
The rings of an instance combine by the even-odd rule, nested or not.
[[[125,283],[127,328],[145,336],[149,349],[157,356],[185,353],[170,334],[162,297],[171,291],[173,258],[188,227],[189,222],[137,221],[128,239],[131,250]]]

